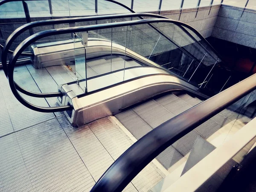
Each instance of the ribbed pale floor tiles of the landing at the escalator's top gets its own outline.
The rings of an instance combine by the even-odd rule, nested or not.
[[[34,91],[50,90],[44,84],[36,87],[26,74],[32,69],[24,67],[17,68],[24,74],[16,78],[18,83],[27,82],[23,85]],[[0,79],[0,191],[90,191],[133,144],[111,117],[76,128],[61,113],[32,111],[12,95],[3,70]],[[26,99],[54,105],[49,100]],[[163,177],[150,163],[124,191],[146,192]]]

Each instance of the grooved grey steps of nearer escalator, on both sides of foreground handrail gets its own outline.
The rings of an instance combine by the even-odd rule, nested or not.
[[[119,113],[116,117],[136,139],[140,139],[153,128],[200,102],[202,102],[200,99],[186,93],[177,95],[170,93]],[[230,109],[221,111],[166,148],[156,159],[168,170],[175,163],[180,162],[183,157],[186,158],[198,135],[207,139],[237,117],[238,113]]]

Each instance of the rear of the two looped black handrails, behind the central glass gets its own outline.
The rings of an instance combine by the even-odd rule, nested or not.
[[[129,13],[129,14],[117,14],[117,15],[101,15],[101,16],[90,16],[90,17],[74,17],[74,18],[54,19],[54,20],[41,20],[41,21],[35,21],[35,22],[27,23],[27,24],[25,24],[23,26],[20,26],[14,32],[12,32],[12,34],[6,40],[6,44],[5,44],[4,48],[3,48],[3,53],[2,53],[3,70],[4,70],[5,74],[6,74],[6,76],[8,76],[8,72],[7,72],[8,71],[8,69],[7,69],[8,68],[7,67],[7,53],[9,51],[9,48],[11,47],[13,41],[15,41],[15,39],[21,33],[25,32],[26,30],[31,29],[33,27],[52,25],[52,24],[60,24],[60,23],[70,23],[70,22],[76,23],[76,22],[81,22],[81,21],[105,20],[105,19],[125,18],[125,17],[140,17],[140,18],[143,19],[142,16],[169,19],[169,18],[161,16],[161,15],[155,15],[155,14],[150,14],[150,13]],[[188,26],[185,23],[183,23],[183,24],[185,26]],[[151,24],[149,24],[149,25],[151,27],[153,27],[153,29],[157,30],[157,32],[159,32],[160,34],[165,36],[157,28],[155,28]],[[169,39],[168,37],[166,37],[166,38],[169,41],[171,41],[173,44],[175,44],[175,42],[173,42],[171,39]],[[190,57],[192,57],[195,60],[197,60],[197,58],[195,58],[193,55],[191,55],[186,49],[183,49],[182,47],[179,47],[177,44],[175,44],[175,46],[180,48],[183,52],[185,52]],[[39,97],[39,98],[44,98],[44,97],[47,98],[47,97],[55,97],[55,96],[62,96],[63,95],[63,93],[60,93],[60,92],[57,92],[57,93],[34,93],[34,92],[31,92],[31,91],[23,89],[22,87],[20,87],[16,83],[15,83],[15,87],[17,88],[17,90],[19,90],[20,92],[22,92],[22,93],[24,93],[24,94],[26,94],[28,96]]]

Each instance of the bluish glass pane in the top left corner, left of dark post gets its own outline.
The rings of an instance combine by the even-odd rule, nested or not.
[[[25,12],[21,1],[4,3],[0,6],[0,18],[25,18]]]

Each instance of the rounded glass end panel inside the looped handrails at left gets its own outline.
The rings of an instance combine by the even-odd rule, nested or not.
[[[36,93],[54,93],[58,91],[58,85],[76,81],[71,35],[70,41],[57,41],[58,39],[61,39],[58,35],[42,38],[25,49],[35,56],[15,66],[14,79],[18,85]],[[22,96],[38,106],[58,105],[56,98]]]

